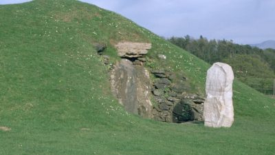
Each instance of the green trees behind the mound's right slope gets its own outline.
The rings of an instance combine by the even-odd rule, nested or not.
[[[250,45],[239,45],[232,40],[208,40],[202,36],[194,39],[186,35],[167,40],[210,64],[228,63],[237,79],[259,92],[273,94],[274,49],[262,50]]]

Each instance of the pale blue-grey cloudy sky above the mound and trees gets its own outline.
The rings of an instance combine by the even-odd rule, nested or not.
[[[275,40],[275,0],[81,1],[118,12],[162,37],[202,35],[243,44]]]

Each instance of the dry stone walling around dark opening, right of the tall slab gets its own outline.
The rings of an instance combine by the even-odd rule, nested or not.
[[[151,70],[153,82],[153,118],[168,123],[203,121],[204,99],[199,94],[190,94],[185,76],[164,70]],[[180,77],[180,78],[179,78]]]

